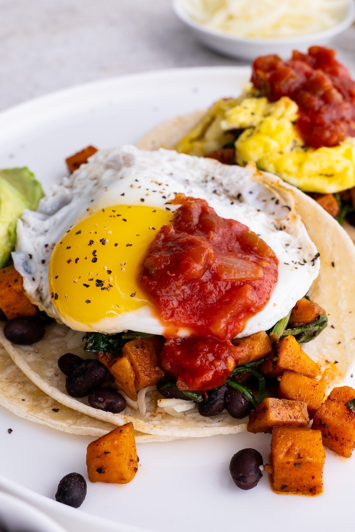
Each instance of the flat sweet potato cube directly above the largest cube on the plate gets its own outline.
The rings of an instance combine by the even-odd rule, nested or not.
[[[308,423],[307,403],[267,397],[249,415],[247,431],[271,433],[277,425],[306,427]]]

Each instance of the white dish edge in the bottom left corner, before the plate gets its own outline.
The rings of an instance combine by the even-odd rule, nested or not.
[[[0,492],[0,528],[9,532],[65,532],[52,519],[27,502]]]

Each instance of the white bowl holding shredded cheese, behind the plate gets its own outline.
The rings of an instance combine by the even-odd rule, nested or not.
[[[259,55],[267,54],[278,54],[284,58],[290,57],[294,49],[306,52],[310,46],[326,44],[332,37],[349,28],[355,20],[355,3],[353,0],[349,0],[343,20],[332,28],[292,38],[254,39],[232,37],[222,32],[203,28],[189,17],[179,0],[172,1],[172,9],[205,46],[230,57],[242,57],[251,61]]]

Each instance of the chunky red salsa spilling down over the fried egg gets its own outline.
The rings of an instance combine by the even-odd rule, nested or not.
[[[181,389],[206,390],[232,372],[230,340],[269,301],[278,259],[248,227],[219,217],[204,200],[177,195],[171,225],[150,246],[140,282],[167,326],[162,368]],[[180,328],[191,337],[178,338]]]

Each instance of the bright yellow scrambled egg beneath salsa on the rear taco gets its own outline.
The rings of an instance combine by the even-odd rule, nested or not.
[[[224,131],[244,129],[235,142],[236,162],[254,161],[304,192],[334,193],[355,185],[355,142],[339,146],[304,146],[295,127],[298,106],[288,97],[269,103],[246,97],[225,112]]]

